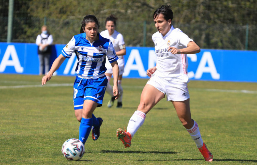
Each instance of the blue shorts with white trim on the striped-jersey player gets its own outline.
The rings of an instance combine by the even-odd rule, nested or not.
[[[77,76],[73,85],[74,110],[82,109],[84,100],[93,100],[98,103],[97,107],[101,107],[106,86],[106,76],[96,79],[85,79]]]

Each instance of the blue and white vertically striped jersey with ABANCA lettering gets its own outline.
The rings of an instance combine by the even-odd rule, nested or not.
[[[99,78],[104,76],[105,57],[110,63],[117,61],[118,57],[109,39],[102,37],[99,33],[99,40],[90,43],[86,34],[81,33],[72,37],[71,41],[62,49],[61,54],[70,58],[75,52],[79,57],[76,73],[85,78]]]

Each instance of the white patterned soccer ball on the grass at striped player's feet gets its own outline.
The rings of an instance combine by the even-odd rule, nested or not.
[[[79,160],[84,152],[84,144],[79,139],[68,139],[63,143],[62,153],[67,160]]]

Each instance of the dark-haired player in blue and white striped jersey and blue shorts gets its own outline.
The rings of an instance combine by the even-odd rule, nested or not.
[[[71,41],[62,49],[61,55],[55,59],[47,75],[42,78],[42,85],[49,81],[53,73],[63,61],[70,58],[74,52],[79,57],[77,76],[74,82],[74,110],[80,123],[79,140],[85,144],[92,129],[92,138],[100,136],[102,118],[96,118],[93,112],[96,107],[102,106],[107,78],[105,76],[106,56],[113,68],[113,95],[119,97],[118,76],[119,66],[117,55],[109,39],[99,33],[99,23],[94,15],[87,15],[82,21],[84,33],[72,37]]]

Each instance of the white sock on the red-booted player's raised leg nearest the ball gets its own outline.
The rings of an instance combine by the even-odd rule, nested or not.
[[[134,114],[131,116],[129,122],[128,122],[128,127],[127,127],[127,132],[130,133],[131,138],[133,138],[134,134],[142,126],[145,120],[145,113],[141,111],[135,111]]]

